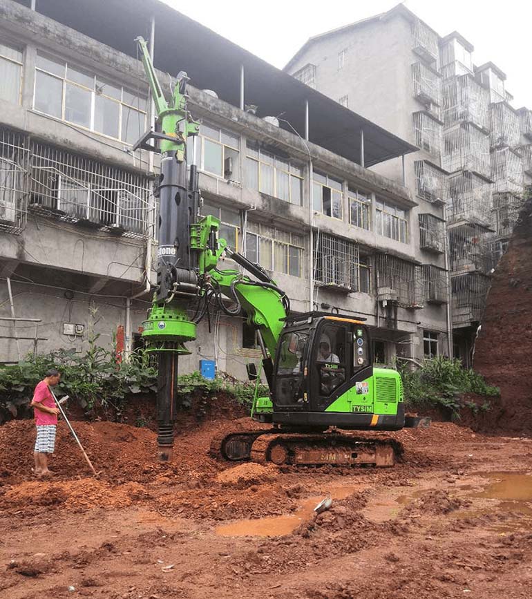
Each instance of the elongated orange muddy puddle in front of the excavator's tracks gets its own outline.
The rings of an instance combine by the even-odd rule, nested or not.
[[[343,500],[353,493],[363,491],[365,486],[339,486],[325,491],[322,495],[309,497],[301,507],[293,514],[285,516],[272,516],[265,518],[253,518],[239,520],[232,524],[224,524],[216,528],[216,534],[224,537],[281,537],[289,535],[306,520],[314,515],[314,508],[325,497],[332,500]]]

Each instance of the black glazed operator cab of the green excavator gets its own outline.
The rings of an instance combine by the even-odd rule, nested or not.
[[[323,412],[372,376],[363,320],[324,312],[287,318],[274,365],[274,412]]]

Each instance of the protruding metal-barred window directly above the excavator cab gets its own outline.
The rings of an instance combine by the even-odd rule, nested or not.
[[[357,243],[320,234],[316,243],[316,281],[350,292],[370,293],[368,256],[361,256]]]

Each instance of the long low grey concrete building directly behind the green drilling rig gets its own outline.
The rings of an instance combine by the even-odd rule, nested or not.
[[[40,319],[2,322],[0,360],[35,343],[81,352],[92,334],[111,346],[124,331],[126,354],[140,343],[158,160],[132,151],[153,124],[137,35],[161,82],[191,77],[202,211],[229,245],[272,272],[293,310],[365,316],[379,363],[445,350],[442,198],[368,169],[415,146],[159,1],[126,4],[87,15],[68,0],[0,0],[0,316]],[[213,309],[210,326],[184,370],[207,358],[244,377],[260,356],[245,318]]]

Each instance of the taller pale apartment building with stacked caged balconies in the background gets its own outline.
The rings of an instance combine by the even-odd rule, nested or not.
[[[418,198],[420,234],[430,219],[421,250],[446,250],[453,353],[466,363],[488,274],[508,244],[523,175],[530,181],[532,173],[531,112],[515,111],[506,75],[491,62],[474,66],[472,53],[458,32],[440,37],[399,5],[310,38],[285,67],[419,148],[374,170],[404,180]]]

